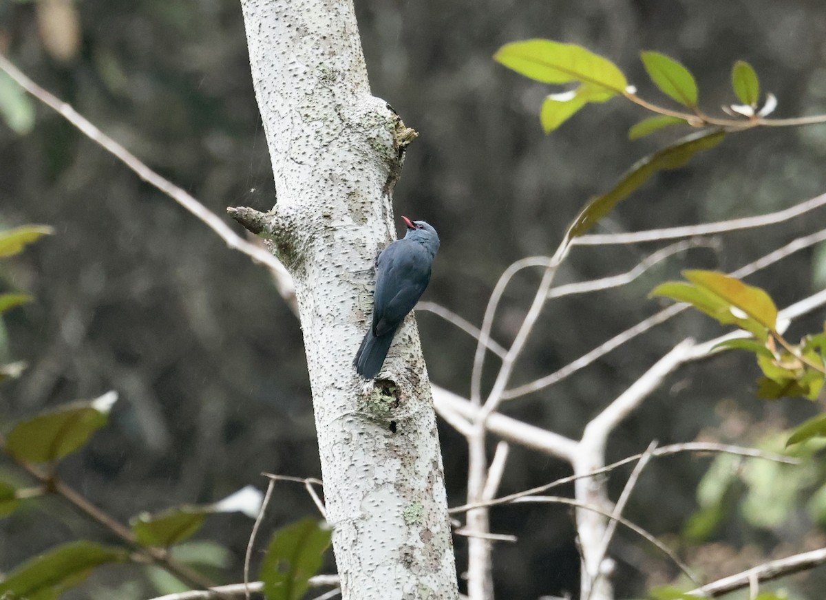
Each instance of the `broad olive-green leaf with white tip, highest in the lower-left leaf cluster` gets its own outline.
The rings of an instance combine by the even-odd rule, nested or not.
[[[115,392],[108,392],[21,421],[8,434],[6,451],[23,461],[57,461],[78,450],[106,425],[116,399]]]

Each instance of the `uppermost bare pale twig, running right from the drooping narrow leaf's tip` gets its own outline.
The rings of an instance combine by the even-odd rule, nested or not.
[[[744,217],[743,219],[732,219],[700,225],[686,225],[684,227],[650,229],[648,231],[637,231],[628,234],[583,235],[580,238],[574,239],[572,243],[579,246],[601,246],[616,243],[661,242],[666,239],[691,238],[697,235],[727,234],[740,229],[753,229],[782,223],[783,221],[794,219],[797,216],[805,215],[807,212],[818,209],[824,205],[826,205],[826,194],[821,194],[805,202],[800,202],[800,204],[796,204],[795,206],[790,206],[784,210],[777,210],[767,215],[757,215]]]

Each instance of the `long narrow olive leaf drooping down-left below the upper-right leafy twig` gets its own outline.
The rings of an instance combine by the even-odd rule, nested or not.
[[[592,198],[586,204],[568,229],[568,239],[585,234],[588,229],[591,229],[602,217],[608,215],[619,202],[624,201],[655,173],[683,167],[697,152],[714,148],[723,141],[724,137],[725,132],[722,130],[700,131],[692,135],[686,135],[676,144],[641,158],[624,174],[614,189],[602,196]]]

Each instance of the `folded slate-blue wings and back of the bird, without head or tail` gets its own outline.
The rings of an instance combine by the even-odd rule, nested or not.
[[[373,334],[392,332],[430,282],[430,256],[420,243],[399,240],[378,257]]]

